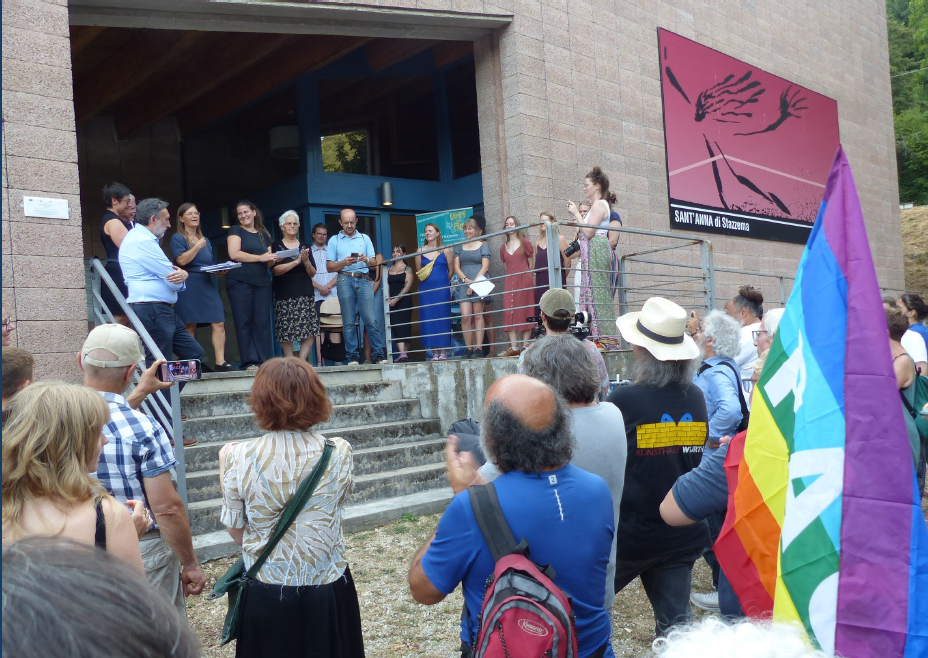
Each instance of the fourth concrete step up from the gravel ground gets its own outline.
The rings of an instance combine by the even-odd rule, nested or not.
[[[246,439],[255,437],[253,432]],[[390,421],[386,423],[369,423],[352,427],[339,427],[325,432],[326,435],[340,436],[351,444],[355,454],[364,448],[402,444],[409,441],[421,441],[435,438],[441,429],[438,420],[414,418],[411,420]],[[193,436],[189,432],[188,436]],[[231,441],[232,439],[230,439]],[[188,477],[197,471],[219,468],[219,450],[228,441],[201,441],[191,448],[184,449],[184,459]]]

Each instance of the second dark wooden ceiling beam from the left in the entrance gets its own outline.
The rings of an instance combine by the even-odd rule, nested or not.
[[[129,137],[208,95],[243,68],[299,39],[295,35],[226,34],[221,46],[190,57],[184,69],[171,71],[155,85],[157,96],[149,103],[135,103],[116,117],[116,132]],[[210,44],[212,46],[212,44]]]

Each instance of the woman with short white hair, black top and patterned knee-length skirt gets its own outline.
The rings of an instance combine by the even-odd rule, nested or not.
[[[274,245],[280,258],[274,272],[274,335],[284,350],[293,356],[293,341],[300,341],[300,358],[309,357],[309,350],[319,335],[316,316],[313,277],[316,267],[310,257],[309,245],[300,241],[300,217],[293,210],[280,216],[284,237]],[[294,253],[295,252],[295,253]]]

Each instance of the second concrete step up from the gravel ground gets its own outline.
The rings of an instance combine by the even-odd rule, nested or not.
[[[189,481],[188,476],[188,483]],[[355,476],[354,493],[351,494],[350,504],[357,505],[375,499],[379,501],[384,498],[439,489],[444,487],[446,482],[443,462]],[[218,482],[216,486],[218,493]],[[194,535],[202,535],[223,530],[223,526],[219,523],[221,505],[222,499],[218,497],[191,502],[187,509],[191,532]]]

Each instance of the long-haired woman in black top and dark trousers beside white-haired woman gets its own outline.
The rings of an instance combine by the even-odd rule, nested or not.
[[[250,201],[235,206],[238,226],[229,229],[229,258],[241,267],[226,275],[242,370],[257,370],[271,358],[271,275],[277,261],[261,211]]]

